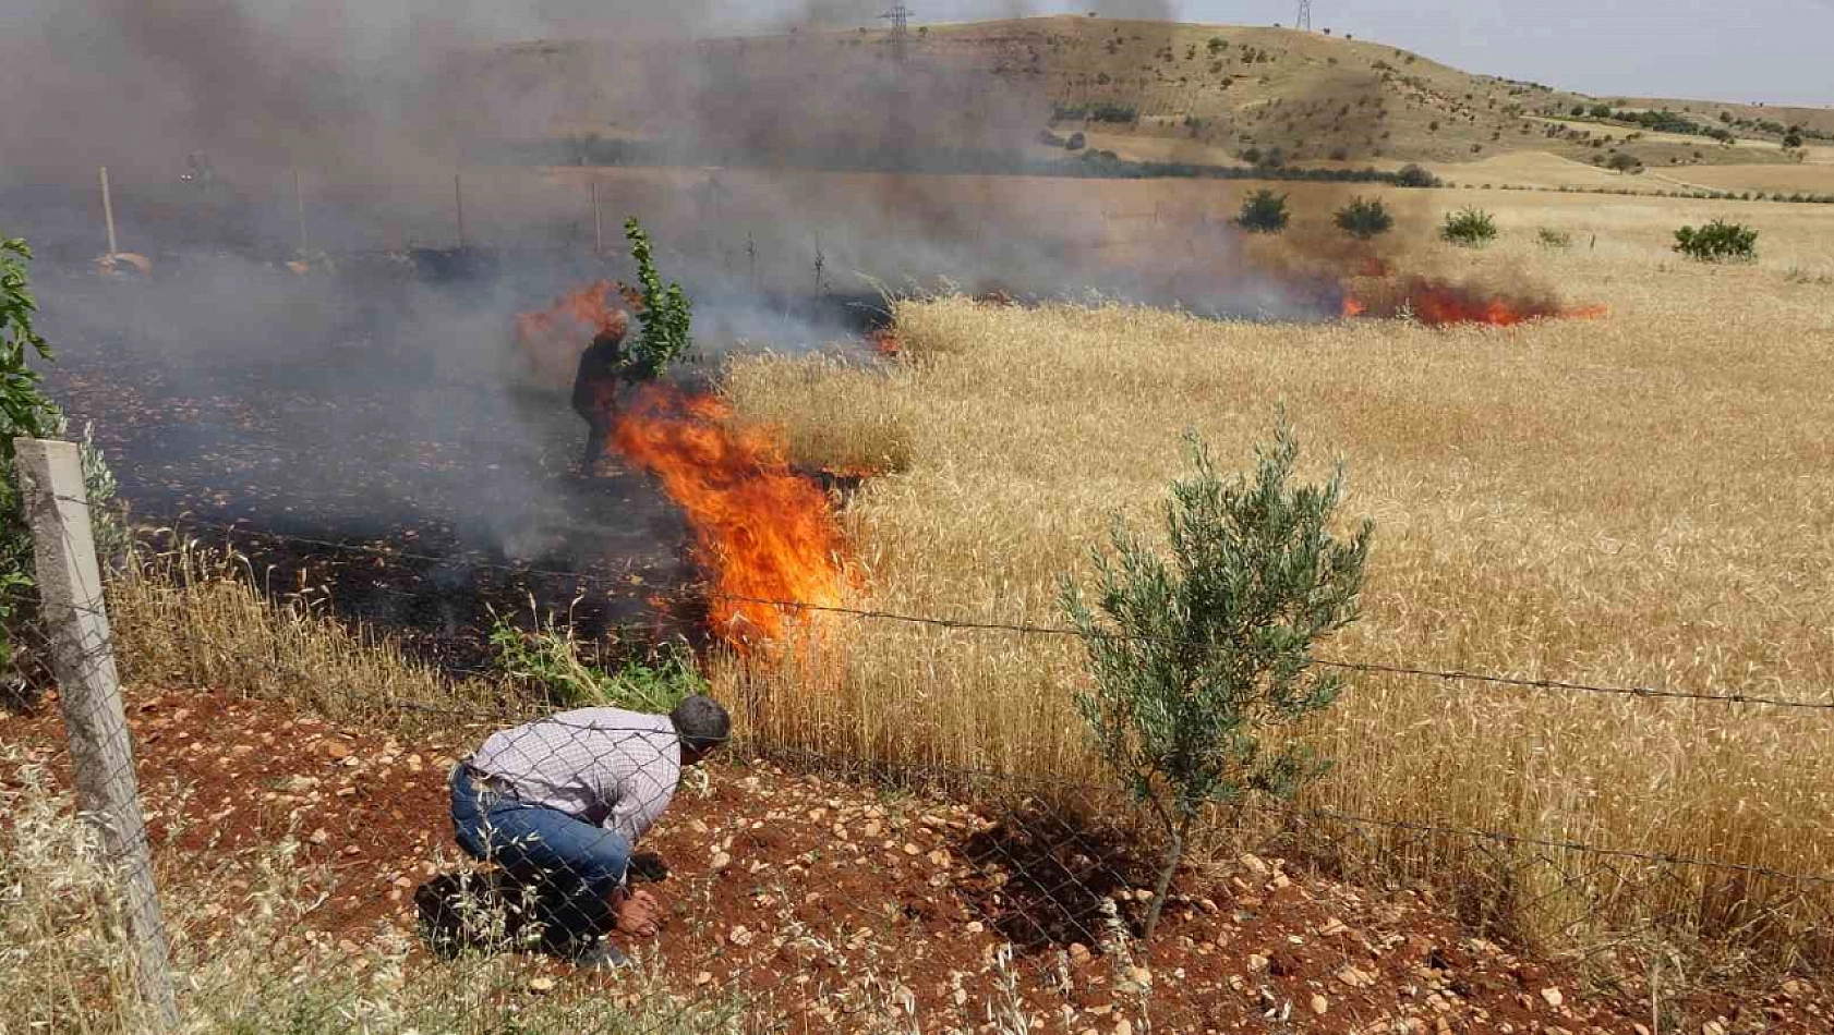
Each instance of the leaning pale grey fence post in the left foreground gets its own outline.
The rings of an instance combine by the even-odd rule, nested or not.
[[[81,454],[75,443],[31,438],[15,440],[15,449],[51,669],[70,736],[77,808],[99,830],[103,850],[121,874],[139,993],[167,1026],[176,1026],[165,921],[152,883]]]

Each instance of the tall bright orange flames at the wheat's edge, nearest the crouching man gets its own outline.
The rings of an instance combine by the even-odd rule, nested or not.
[[[618,416],[613,443],[688,511],[713,577],[713,628],[750,652],[781,641],[790,621],[820,617],[757,601],[842,603],[845,544],[827,495],[790,471],[783,443],[767,430],[730,430],[728,416],[717,398],[646,387]]]

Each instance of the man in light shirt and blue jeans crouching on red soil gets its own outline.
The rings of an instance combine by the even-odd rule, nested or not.
[[[532,892],[547,947],[583,967],[616,967],[611,929],[647,938],[660,907],[627,877],[658,879],[636,843],[675,797],[682,766],[726,742],[732,720],[708,696],[669,714],[592,707],[493,733],[453,768],[453,830],[473,859],[503,865]]]

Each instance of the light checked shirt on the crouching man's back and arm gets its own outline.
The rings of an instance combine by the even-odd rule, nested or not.
[[[680,736],[666,714],[589,707],[493,733],[471,766],[510,797],[636,841],[680,782]]]

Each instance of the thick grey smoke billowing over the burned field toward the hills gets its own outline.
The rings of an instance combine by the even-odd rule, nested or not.
[[[625,214],[651,229],[664,275],[688,284],[713,348],[856,335],[834,297],[877,300],[878,286],[1304,311],[1242,269],[1221,229],[1148,262],[1111,253],[1093,181],[1014,191],[935,176],[1036,154],[1051,99],[1023,48],[990,60],[919,38],[897,60],[882,9],[6,0],[0,234],[26,234],[55,271],[40,297],[79,374],[66,401],[128,460],[141,498],[180,509],[191,496],[167,498],[171,485],[235,487],[238,500],[205,513],[284,515],[321,537],[433,526],[550,566],[668,537],[649,531],[629,482],[609,491],[624,509],[574,528],[567,467],[585,429],[565,396],[521,390],[512,352],[517,311],[629,278],[616,258]],[[1022,9],[985,0],[950,15]],[[618,148],[638,148],[635,169],[528,169],[633,158]],[[121,247],[154,258],[145,284],[86,271],[106,247],[99,165],[114,174]],[[497,277],[418,280],[403,255],[436,273],[460,233],[499,255]],[[343,273],[288,273],[301,245]],[[154,430],[134,440],[125,416],[147,410]],[[605,546],[620,535],[631,542]]]

